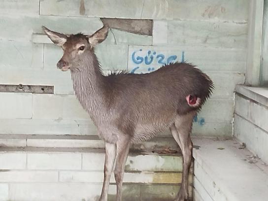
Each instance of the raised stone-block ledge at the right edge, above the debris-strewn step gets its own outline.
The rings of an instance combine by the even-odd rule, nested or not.
[[[236,86],[234,136],[268,163],[268,88]]]

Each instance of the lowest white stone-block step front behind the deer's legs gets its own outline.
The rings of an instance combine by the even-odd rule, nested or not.
[[[102,148],[0,148],[0,201],[97,201],[103,180]],[[179,154],[131,152],[123,200],[172,201],[182,171]],[[192,172],[192,171],[191,171]],[[192,192],[192,174],[189,175]],[[115,200],[111,177],[109,201]]]

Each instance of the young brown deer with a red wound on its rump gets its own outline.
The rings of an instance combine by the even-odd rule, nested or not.
[[[183,154],[182,183],[175,201],[188,199],[188,172],[192,159],[190,133],[193,118],[213,89],[210,78],[186,63],[168,64],[146,74],[112,73],[104,76],[94,47],[108,33],[65,35],[43,27],[63,48],[57,64],[70,70],[73,89],[105,141],[104,181],[99,201],[107,201],[111,173],[121,201],[125,163],[133,142],[148,140],[169,128]]]

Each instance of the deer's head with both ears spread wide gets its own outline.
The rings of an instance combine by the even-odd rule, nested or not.
[[[92,35],[82,33],[66,35],[53,32],[44,26],[42,28],[52,42],[62,47],[64,51],[62,58],[57,63],[57,67],[62,71],[79,68],[83,58],[88,56],[89,52],[93,52],[95,45],[102,42],[108,34],[108,28],[105,26]]]

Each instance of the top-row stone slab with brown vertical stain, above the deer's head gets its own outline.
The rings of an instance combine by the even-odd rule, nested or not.
[[[109,0],[42,0],[40,14],[139,19],[142,4],[143,0],[117,0],[114,3]]]

